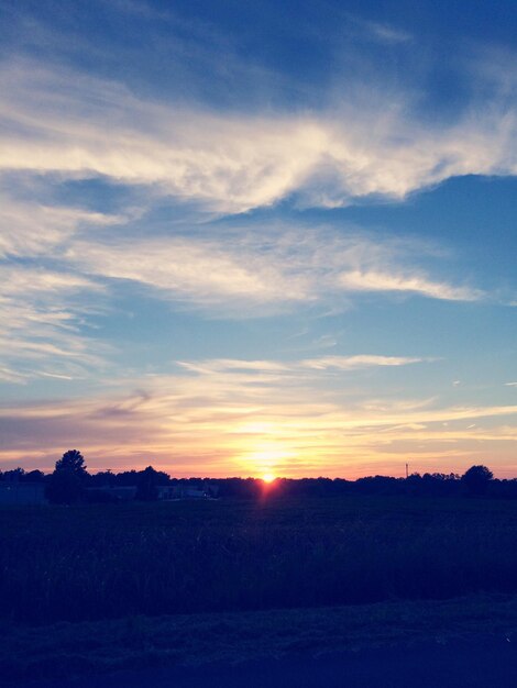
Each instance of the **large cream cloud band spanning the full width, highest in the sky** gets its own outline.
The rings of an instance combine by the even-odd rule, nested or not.
[[[386,107],[375,85],[320,110],[221,113],[23,60],[3,63],[0,88],[3,169],[153,185],[223,213],[295,192],[315,206],[403,199],[452,176],[517,171],[517,116],[507,102],[475,103],[433,127],[403,93]]]

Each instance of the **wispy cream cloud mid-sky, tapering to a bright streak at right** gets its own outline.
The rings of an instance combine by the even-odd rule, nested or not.
[[[426,246],[301,228],[230,232],[219,226],[217,237],[206,232],[77,241],[64,255],[75,269],[140,282],[211,315],[246,318],[297,303],[332,302],[343,309],[352,296],[367,292],[464,301],[485,297],[479,289],[432,279],[415,265],[415,254],[424,258]]]

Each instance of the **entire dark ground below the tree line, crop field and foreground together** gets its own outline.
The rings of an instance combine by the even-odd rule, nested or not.
[[[0,683],[517,688],[516,542],[517,500],[0,509]]]

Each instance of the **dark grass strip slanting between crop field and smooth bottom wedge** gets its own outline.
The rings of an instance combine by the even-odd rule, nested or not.
[[[14,687],[34,678],[58,680],[156,667],[231,666],[280,657],[297,661],[377,647],[410,652],[419,643],[444,646],[455,641],[479,643],[490,639],[517,642],[517,596],[129,617],[14,629],[6,624],[0,625],[0,684],[3,679]],[[119,680],[117,685],[124,684]]]

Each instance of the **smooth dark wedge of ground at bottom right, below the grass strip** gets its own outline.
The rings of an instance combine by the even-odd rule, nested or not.
[[[23,684],[23,688],[515,688],[517,646],[477,637]],[[20,687],[22,688],[22,687]]]

